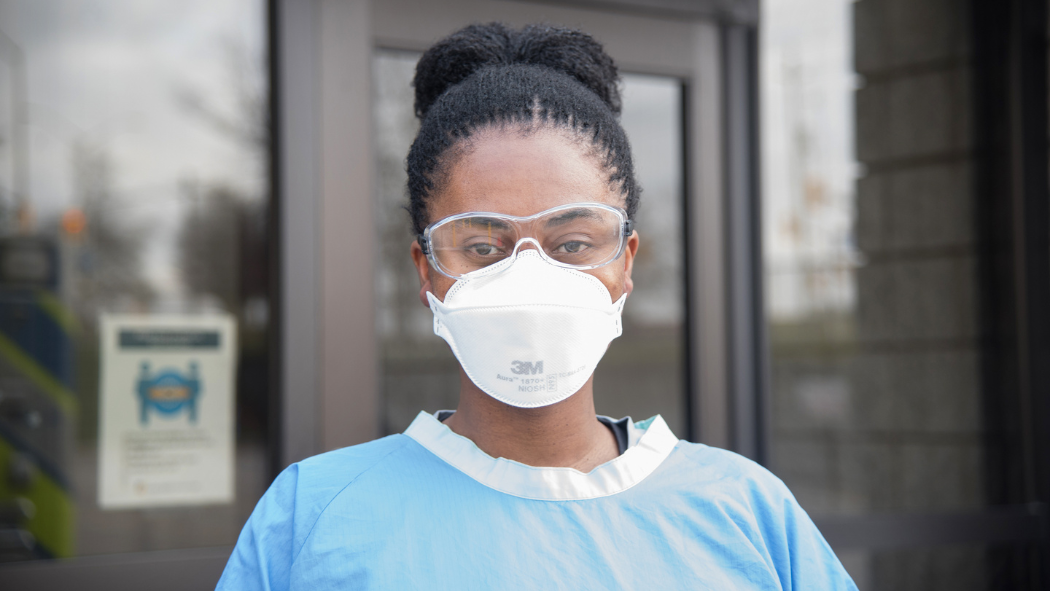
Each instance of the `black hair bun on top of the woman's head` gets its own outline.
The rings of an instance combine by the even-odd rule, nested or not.
[[[471,24],[432,46],[416,64],[416,117],[474,72],[498,65],[545,66],[571,76],[620,114],[620,72],[602,44],[586,33],[548,25],[516,30],[503,23]]]

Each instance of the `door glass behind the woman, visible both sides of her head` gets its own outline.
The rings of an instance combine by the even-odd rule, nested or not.
[[[459,400],[459,364],[434,335],[433,315],[420,304],[419,279],[408,257],[413,236],[404,210],[404,159],[418,128],[411,87],[418,59],[378,51],[373,62],[375,210],[381,239],[377,333],[386,432],[404,430],[420,410],[455,408]],[[624,82],[622,121],[644,188],[636,225],[642,246],[624,334],[595,373],[595,404],[598,413],[613,417],[660,414],[685,436],[681,86],[659,77],[626,76]]]

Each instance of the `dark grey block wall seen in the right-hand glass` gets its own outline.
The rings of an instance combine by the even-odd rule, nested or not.
[[[858,355],[853,458],[872,510],[985,498],[969,17],[951,0],[855,4]],[[863,491],[863,492],[861,492]],[[879,589],[969,589],[985,550],[879,554]]]

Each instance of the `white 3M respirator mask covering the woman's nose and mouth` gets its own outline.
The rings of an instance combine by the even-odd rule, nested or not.
[[[627,294],[612,302],[591,275],[536,250],[468,273],[440,301],[427,292],[434,333],[492,398],[523,408],[561,402],[594,373],[623,332]]]

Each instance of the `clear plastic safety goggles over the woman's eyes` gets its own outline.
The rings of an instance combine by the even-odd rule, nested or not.
[[[430,224],[417,239],[430,265],[455,279],[517,256],[525,242],[559,267],[596,269],[620,257],[632,231],[623,209],[583,203],[527,217],[460,213]]]

